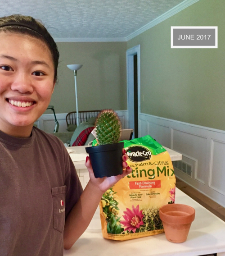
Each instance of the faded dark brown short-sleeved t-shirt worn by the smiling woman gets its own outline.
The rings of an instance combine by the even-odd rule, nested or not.
[[[82,191],[57,137],[0,131],[0,256],[63,256],[65,218]]]

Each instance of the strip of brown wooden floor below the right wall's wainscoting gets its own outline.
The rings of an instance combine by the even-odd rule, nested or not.
[[[215,201],[198,192],[198,190],[189,186],[187,183],[184,183],[179,178],[176,178],[176,187],[189,197],[193,198],[193,200],[197,201],[200,205],[204,206],[207,210],[211,211],[217,217],[225,221],[225,208],[223,206],[220,206]]]

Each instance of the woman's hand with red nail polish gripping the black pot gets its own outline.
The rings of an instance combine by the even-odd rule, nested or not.
[[[122,156],[123,173],[117,176],[95,178],[93,169],[91,166],[90,158],[87,156],[85,166],[89,171],[90,182],[93,183],[93,185],[96,186],[102,193],[106,192],[106,190],[108,190],[110,187],[115,185],[121,178],[131,173],[132,168],[130,168],[126,163],[127,159],[128,159],[128,155],[126,155],[126,151],[125,149],[123,149],[123,156]]]

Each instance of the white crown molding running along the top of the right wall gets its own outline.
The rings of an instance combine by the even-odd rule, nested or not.
[[[195,4],[198,1],[199,0],[184,0],[184,2],[180,3],[179,5],[176,5],[175,7],[173,7],[166,13],[162,14],[158,18],[154,19],[153,21],[149,22],[148,24],[144,25],[143,27],[139,28],[135,32],[131,33],[129,36],[125,37],[126,41],[129,41],[130,39],[138,36],[139,34],[145,32],[149,28],[154,27],[158,23],[161,23],[162,21],[166,20],[167,18],[170,18],[171,16],[179,13],[183,9],[189,7],[190,5]]]

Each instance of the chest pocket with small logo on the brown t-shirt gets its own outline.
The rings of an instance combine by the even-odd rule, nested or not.
[[[52,188],[53,227],[61,233],[63,233],[65,225],[66,190],[67,186]]]

